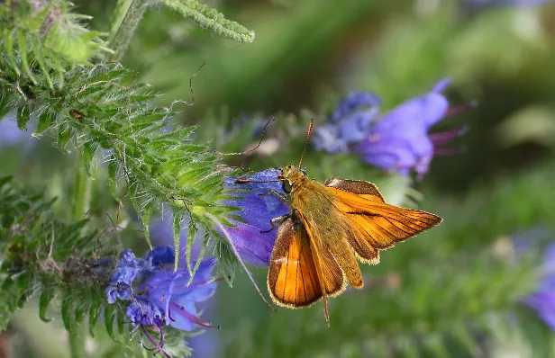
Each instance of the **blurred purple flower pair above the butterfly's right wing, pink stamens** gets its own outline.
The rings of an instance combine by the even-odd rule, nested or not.
[[[373,166],[403,175],[414,169],[422,177],[434,154],[453,152],[440,147],[466,131],[428,134],[450,112],[457,112],[450,111],[449,102],[441,94],[449,84],[449,79],[441,80],[430,93],[399,105],[379,121],[375,121],[378,97],[351,92],[337,104],[329,124],[314,130],[314,148],[329,153],[356,153]]]

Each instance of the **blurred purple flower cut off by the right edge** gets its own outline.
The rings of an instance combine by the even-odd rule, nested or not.
[[[536,291],[523,299],[523,303],[536,310],[538,316],[555,331],[555,244],[545,254],[542,266],[543,278]]]

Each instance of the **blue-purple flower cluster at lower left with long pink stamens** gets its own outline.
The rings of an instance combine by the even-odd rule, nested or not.
[[[126,250],[105,290],[109,303],[129,301],[127,317],[133,325],[141,327],[154,349],[166,356],[168,354],[163,350],[164,325],[184,331],[193,331],[196,326],[214,327],[197,317],[196,302],[214,295],[216,283],[212,270],[215,259],[200,263],[193,280],[187,268],[173,271],[174,261],[174,250],[169,246],[154,248],[143,258]],[[159,331],[159,342],[152,339],[147,327]]]

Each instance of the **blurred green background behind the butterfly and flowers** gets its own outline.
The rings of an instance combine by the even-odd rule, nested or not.
[[[91,26],[100,31],[108,30],[113,3],[75,1],[79,13],[94,16]],[[177,120],[199,124],[199,138],[212,140],[220,150],[243,150],[257,141],[225,138],[240,116],[276,116],[269,133],[281,139],[284,123],[295,123],[296,131],[289,132],[296,139],[281,140],[270,157],[251,157],[251,169],[295,163],[308,118],[316,118],[315,125],[323,122],[352,89],[378,94],[386,112],[449,76],[450,102],[478,105],[438,126],[467,125],[469,132],[455,144],[465,152],[435,157],[430,173],[416,183],[418,193],[407,190],[404,180],[384,190],[387,200],[398,191],[410,194],[412,201],[397,203],[440,214],[441,227],[385,252],[378,266],[361,267],[366,287],[331,300],[331,328],[325,327],[321,303],[270,314],[237,270],[233,287],[220,284],[215,306],[207,309],[222,329],[192,339],[194,356],[555,356],[549,328],[519,308],[517,301],[534,281],[529,272],[521,273],[525,260],[510,239],[514,232],[538,227],[546,228],[547,241],[555,238],[555,5],[477,6],[464,0],[205,4],[256,31],[255,42],[221,40],[177,13],[153,7],[123,63],[162,94],[160,104],[169,105],[191,100],[189,78],[205,61],[193,79],[195,103],[177,104],[182,111]],[[32,147],[0,148],[0,174],[44,185],[56,195],[75,164],[50,148],[48,138],[29,140]],[[232,164],[241,161],[230,158]],[[304,165],[318,179],[389,180],[355,157],[310,148]],[[102,192],[102,175],[96,185],[102,208],[110,202],[109,193]],[[535,242],[536,237],[523,239]],[[250,269],[265,292],[267,268]],[[24,335],[41,337],[37,315],[22,315],[27,318],[17,326]],[[16,347],[23,349],[27,339],[18,339]],[[102,339],[91,343],[90,356],[100,356],[101,345]],[[16,356],[67,355],[63,348],[46,347],[26,346]]]

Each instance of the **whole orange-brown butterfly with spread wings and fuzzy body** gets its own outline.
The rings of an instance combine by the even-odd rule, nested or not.
[[[312,125],[311,121],[308,134]],[[290,309],[323,299],[329,326],[327,298],[341,294],[347,284],[357,289],[364,286],[357,259],[378,264],[379,250],[442,219],[387,204],[373,183],[340,178],[319,183],[305,175],[301,163],[280,168],[278,180],[291,211],[271,221],[272,228],[279,226],[269,262],[268,291],[278,305]]]

